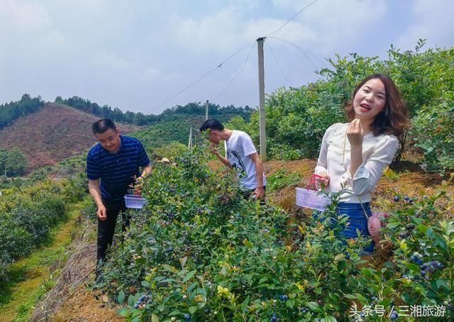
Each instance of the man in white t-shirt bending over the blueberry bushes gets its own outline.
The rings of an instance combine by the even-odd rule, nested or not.
[[[266,178],[263,172],[262,160],[255,150],[253,140],[243,131],[229,130],[224,128],[216,118],[209,118],[202,124],[200,131],[206,131],[207,137],[213,145],[211,151],[221,162],[236,168],[238,180],[245,190],[245,197],[255,199],[265,198]],[[216,146],[224,140],[226,157],[223,157]]]

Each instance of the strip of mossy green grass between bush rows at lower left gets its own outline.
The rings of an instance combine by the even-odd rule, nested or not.
[[[55,284],[60,272],[50,267],[67,258],[79,206],[70,206],[68,212],[68,221],[52,228],[48,245],[11,265],[9,281],[0,283],[0,321],[27,321],[40,297]]]

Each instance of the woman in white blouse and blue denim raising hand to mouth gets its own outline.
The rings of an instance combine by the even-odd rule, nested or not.
[[[370,193],[399,148],[397,137],[409,124],[408,110],[392,79],[372,74],[358,84],[345,111],[350,123],[326,130],[315,173],[330,192],[340,191],[341,184],[348,189],[340,196],[338,211],[349,216],[345,238],[357,238],[357,228],[369,236],[365,214],[372,215]],[[373,249],[371,240],[364,254]]]

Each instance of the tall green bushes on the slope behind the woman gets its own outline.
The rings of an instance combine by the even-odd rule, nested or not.
[[[429,48],[420,40],[414,50],[388,50],[388,58],[348,57],[329,59],[320,79],[301,87],[280,88],[266,99],[268,155],[277,159],[318,157],[328,126],[345,122],[343,106],[356,84],[369,74],[389,74],[409,107],[412,128],[402,138],[402,148],[415,147],[421,165],[430,172],[454,169],[454,48]],[[231,128],[250,133],[258,143],[258,112],[249,123],[239,117]],[[415,154],[413,154],[415,155]],[[397,155],[400,157],[400,154]]]

